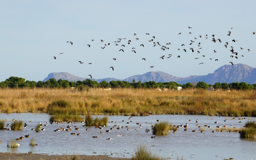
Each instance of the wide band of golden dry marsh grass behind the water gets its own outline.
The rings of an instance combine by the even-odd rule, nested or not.
[[[256,116],[256,91],[1,89],[0,113]]]

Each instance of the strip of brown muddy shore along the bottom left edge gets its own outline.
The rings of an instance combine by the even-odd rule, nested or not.
[[[44,155],[44,154],[28,154],[28,153],[2,153],[0,152],[0,160],[128,160],[129,158],[113,158],[106,155],[86,156],[86,155]]]

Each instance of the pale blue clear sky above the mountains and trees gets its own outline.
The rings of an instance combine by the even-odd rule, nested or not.
[[[253,0],[3,1],[0,82],[11,76],[37,82],[52,72],[95,79],[125,79],[150,71],[199,76],[231,65],[230,61],[256,68],[255,4]],[[222,43],[214,43],[212,35]],[[118,38],[126,39],[115,42]]]

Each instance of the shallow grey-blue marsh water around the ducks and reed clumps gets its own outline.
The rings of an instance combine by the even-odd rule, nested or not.
[[[101,117],[101,116],[98,116]],[[235,118],[235,119],[233,119]],[[149,116],[133,116],[129,120],[129,116],[108,116],[110,121],[103,129],[95,128],[95,126],[83,127],[84,123],[59,123],[42,126],[44,131],[32,131],[36,124],[46,124],[49,121],[47,114],[35,113],[13,113],[0,114],[0,119],[6,119],[5,126],[12,123],[12,119],[23,120],[28,124],[27,128],[19,131],[0,130],[0,152],[14,152],[14,153],[32,153],[49,154],[49,155],[109,155],[113,157],[127,157],[130,158],[134,154],[134,149],[140,144],[145,144],[148,148],[160,155],[163,158],[175,158],[184,156],[186,159],[256,159],[256,139],[239,138],[238,132],[212,132],[216,126],[226,125],[226,127],[243,127],[248,120],[256,120],[256,117],[245,117],[243,120],[238,118],[244,117],[225,117],[225,116],[200,116],[200,115],[149,115]],[[151,125],[160,121],[169,121],[173,125],[185,125],[188,123],[188,131],[184,131],[184,127],[178,129],[177,132],[168,132],[167,135],[154,136],[152,134]],[[191,121],[189,121],[189,119]],[[226,119],[226,122],[224,120]],[[124,122],[123,122],[124,120]],[[196,123],[198,120],[198,123]],[[31,122],[29,122],[31,121]],[[114,121],[114,122],[111,122]],[[132,121],[132,122],[131,122]],[[217,124],[214,122],[218,122]],[[239,123],[241,121],[241,123]],[[115,123],[116,122],[116,123]],[[129,124],[127,124],[129,122]],[[141,124],[141,128],[138,124]],[[147,123],[147,124],[146,124]],[[151,125],[149,123],[152,123]],[[116,129],[115,127],[110,132],[106,132],[115,124],[124,126],[124,128]],[[205,131],[201,133],[198,126],[210,125],[211,128],[205,127]],[[57,128],[67,128],[70,125],[71,131],[54,132]],[[75,126],[79,130],[75,130]],[[125,128],[129,126],[129,130]],[[8,128],[8,127],[7,127]],[[86,131],[88,128],[88,131]],[[149,132],[145,132],[149,129]],[[135,131],[138,130],[138,131]],[[196,130],[196,132],[192,132]],[[103,133],[100,133],[103,131]],[[75,135],[70,133],[75,132]],[[80,133],[80,136],[76,134]],[[30,135],[25,138],[25,135]],[[123,136],[117,136],[122,134]],[[17,141],[20,143],[18,148],[8,148],[7,141],[23,136],[23,140]],[[92,138],[97,136],[98,138]],[[30,146],[31,138],[36,139],[38,146]],[[106,140],[113,138],[113,140]]]

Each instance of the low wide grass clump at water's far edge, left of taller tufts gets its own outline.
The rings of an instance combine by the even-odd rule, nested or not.
[[[79,121],[84,121],[84,118],[80,115],[56,114],[56,115],[51,115],[49,121],[79,122]]]

